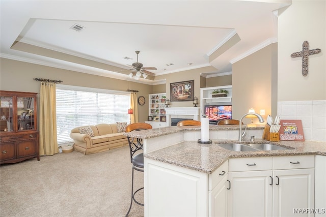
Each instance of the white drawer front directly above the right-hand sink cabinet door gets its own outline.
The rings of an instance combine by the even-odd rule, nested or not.
[[[273,170],[314,168],[315,156],[280,156],[273,157]]]

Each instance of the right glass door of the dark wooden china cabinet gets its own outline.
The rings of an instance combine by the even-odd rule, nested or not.
[[[17,121],[18,131],[34,130],[34,98],[17,97]]]

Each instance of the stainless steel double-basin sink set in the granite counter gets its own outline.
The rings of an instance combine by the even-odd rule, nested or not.
[[[231,151],[271,151],[271,150],[287,150],[279,145],[268,143],[255,143],[255,144],[239,144],[239,143],[223,143],[218,146]]]

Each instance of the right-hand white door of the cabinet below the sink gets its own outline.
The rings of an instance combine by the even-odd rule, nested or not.
[[[273,216],[314,216],[314,169],[274,170]]]

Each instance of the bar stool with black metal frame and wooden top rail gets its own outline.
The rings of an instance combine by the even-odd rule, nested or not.
[[[131,131],[148,130],[148,129],[152,129],[152,126],[148,123],[131,123],[126,127],[126,132],[128,133]],[[130,162],[132,164],[132,179],[131,179],[131,201],[126,216],[128,216],[130,212],[132,201],[134,201],[135,203],[141,206],[144,206],[144,204],[138,202],[134,198],[134,195],[140,190],[144,189],[144,187],[133,192],[133,171],[137,170],[140,172],[144,172],[144,154],[142,151],[143,139],[134,138],[134,137],[127,137],[127,138],[128,138],[129,150],[130,150]]]

